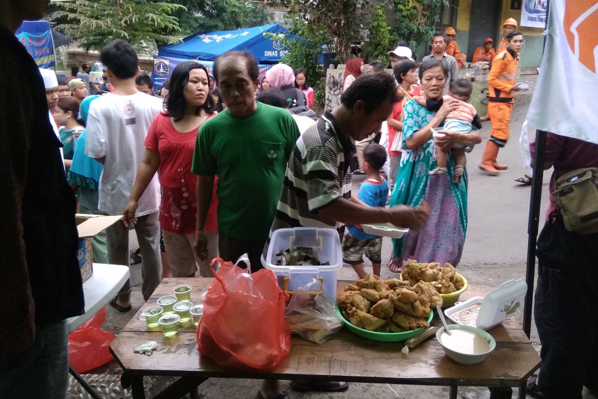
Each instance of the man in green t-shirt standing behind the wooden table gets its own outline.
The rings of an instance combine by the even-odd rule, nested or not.
[[[299,138],[288,111],[255,101],[258,65],[253,56],[229,51],[216,59],[214,77],[227,109],[197,134],[191,171],[197,180],[197,255],[208,256],[205,220],[218,176],[218,249],[227,261],[249,254],[252,272],[262,268],[285,176]]]

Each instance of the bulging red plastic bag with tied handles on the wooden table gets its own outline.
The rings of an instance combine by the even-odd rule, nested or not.
[[[291,328],[283,317],[287,296],[274,272],[249,275],[221,258],[210,268],[216,279],[197,326],[200,354],[227,370],[273,370],[291,352]]]

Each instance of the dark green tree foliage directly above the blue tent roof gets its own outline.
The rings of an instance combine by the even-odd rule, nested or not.
[[[230,31],[269,23],[268,12],[257,2],[245,0],[175,0],[187,10],[174,14],[182,33]]]

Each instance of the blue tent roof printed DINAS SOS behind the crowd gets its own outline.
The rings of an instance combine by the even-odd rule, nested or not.
[[[160,47],[158,56],[213,61],[226,51],[245,50],[254,54],[258,63],[278,62],[286,50],[279,42],[264,36],[264,32],[286,34],[288,29],[274,23],[237,31],[195,33],[183,39],[181,44]]]

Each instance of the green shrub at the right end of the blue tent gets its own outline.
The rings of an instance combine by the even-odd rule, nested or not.
[[[285,23],[289,29],[288,35],[276,33],[264,33],[264,35],[273,41],[279,41],[288,50],[280,58],[280,62],[291,66],[295,71],[299,68],[306,70],[307,81],[315,91],[314,101],[324,105],[324,87],[321,85],[322,68],[319,59],[322,55],[322,46],[328,44],[331,38],[323,29],[309,25],[297,15],[287,14]]]

